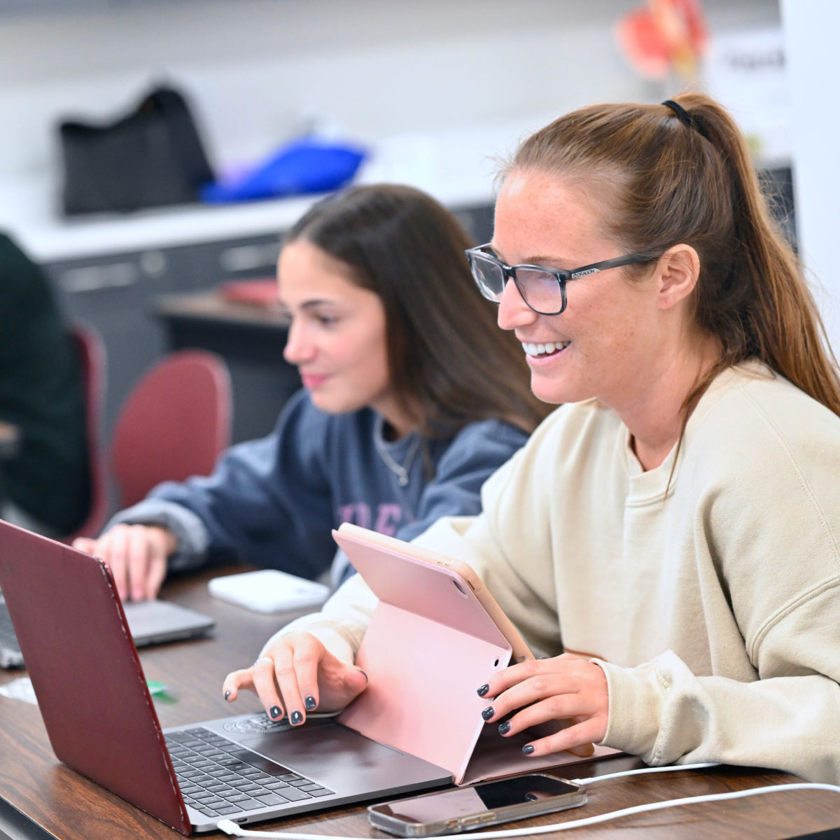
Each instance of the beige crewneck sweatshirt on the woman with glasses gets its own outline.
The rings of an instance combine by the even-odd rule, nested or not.
[[[607,746],[840,783],[840,418],[742,365],[674,456],[643,472],[612,410],[560,407],[480,517],[415,542],[469,563],[533,648],[596,659]],[[373,606],[357,575],[281,633],[349,661]]]

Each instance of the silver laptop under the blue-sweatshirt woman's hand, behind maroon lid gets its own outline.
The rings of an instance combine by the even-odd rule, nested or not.
[[[138,648],[205,636],[216,624],[213,618],[172,601],[131,601],[123,604],[123,611]],[[24,654],[0,592],[0,668],[23,667]]]

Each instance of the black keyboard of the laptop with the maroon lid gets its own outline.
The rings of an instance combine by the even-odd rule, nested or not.
[[[184,801],[205,816],[256,811],[334,792],[204,727],[169,732],[166,747]]]

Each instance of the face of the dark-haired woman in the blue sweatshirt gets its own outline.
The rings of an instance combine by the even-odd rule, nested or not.
[[[280,300],[291,315],[283,355],[300,370],[312,402],[330,413],[369,406],[388,415],[385,307],[347,266],[306,239],[281,251]]]

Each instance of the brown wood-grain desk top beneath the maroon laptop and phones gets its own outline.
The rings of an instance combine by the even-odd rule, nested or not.
[[[233,570],[231,570],[233,571]],[[214,574],[219,574],[217,570]],[[146,677],[172,686],[177,702],[155,700],[161,724],[175,726],[202,718],[260,711],[255,697],[234,706],[222,697],[220,686],[228,670],[249,664],[270,633],[276,617],[251,613],[207,595],[204,574],[166,585],[164,595],[211,613],[218,622],[214,638],[144,648],[140,653]],[[60,642],[57,642],[60,643]],[[22,672],[5,672],[0,683]],[[97,690],[91,686],[91,690]],[[174,840],[181,835],[129,805],[108,790],[59,764],[50,749],[39,711],[21,701],[0,697],[0,837],[35,837],[39,840],[136,840],[138,837]],[[561,769],[568,778],[591,776],[640,766],[638,759],[622,757],[575,764]],[[793,777],[743,768],[680,771],[673,774],[631,777],[592,785],[590,800],[582,808],[561,814],[533,817],[513,826],[536,826],[574,820],[650,801],[743,790],[793,781]],[[575,829],[571,836],[695,838],[838,837],[838,796],[827,791],[792,791],[731,802],[683,806],[623,817],[600,826]],[[252,828],[252,827],[249,827]],[[302,830],[325,836],[390,837],[370,827],[365,806],[322,811],[314,816],[291,817],[256,827]],[[6,832],[5,834],[3,832]],[[224,837],[221,832],[204,835]],[[465,840],[469,833],[463,835]],[[554,835],[555,837],[557,835]],[[566,835],[562,835],[565,837]]]

